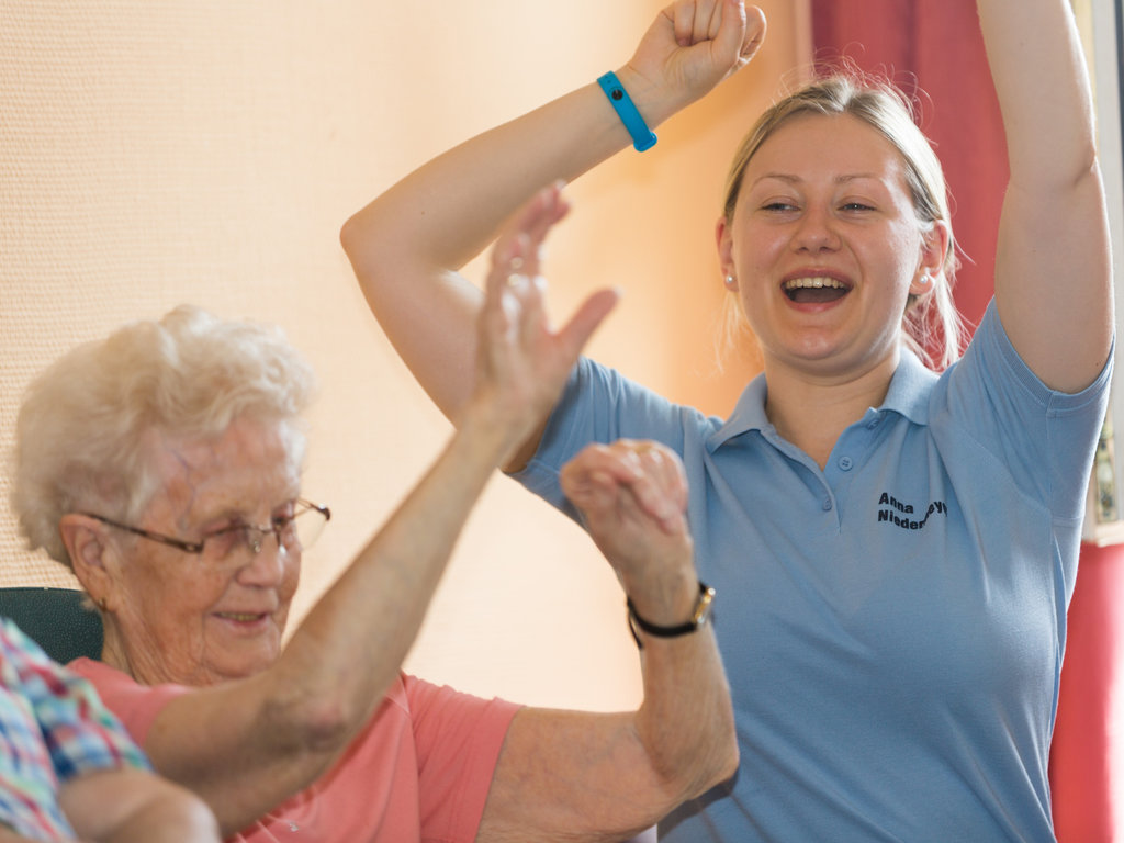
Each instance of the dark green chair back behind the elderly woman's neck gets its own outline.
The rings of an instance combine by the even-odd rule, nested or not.
[[[84,591],[71,588],[0,588],[0,615],[56,662],[101,658],[101,616],[82,606]]]

